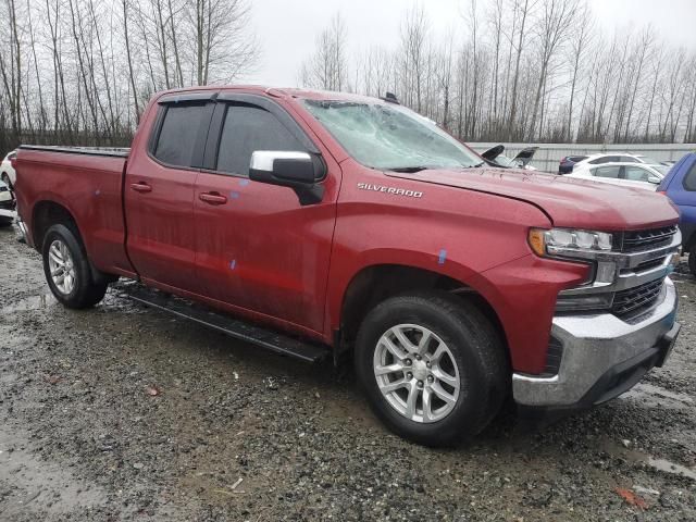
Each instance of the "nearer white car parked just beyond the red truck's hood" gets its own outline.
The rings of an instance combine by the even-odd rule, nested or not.
[[[657,190],[657,186],[662,182],[668,171],[669,166],[666,165],[647,165],[643,163],[585,164],[575,166],[573,172],[564,177],[579,177],[624,187]]]

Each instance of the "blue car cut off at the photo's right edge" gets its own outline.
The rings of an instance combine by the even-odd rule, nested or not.
[[[679,207],[682,246],[688,252],[688,268],[696,275],[696,152],[686,154],[672,166],[658,191]]]

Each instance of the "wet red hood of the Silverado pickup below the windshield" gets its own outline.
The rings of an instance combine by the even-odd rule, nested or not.
[[[554,226],[560,227],[598,231],[657,228],[679,219],[674,207],[662,195],[592,179],[486,167],[385,174],[526,201],[544,211]],[[426,194],[425,189],[423,192]]]

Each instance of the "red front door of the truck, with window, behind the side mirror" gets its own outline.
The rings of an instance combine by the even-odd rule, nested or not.
[[[274,101],[220,96],[194,201],[201,284],[236,311],[321,332],[339,167],[323,154],[323,200],[302,206],[288,187],[249,181],[254,150],[320,152]]]

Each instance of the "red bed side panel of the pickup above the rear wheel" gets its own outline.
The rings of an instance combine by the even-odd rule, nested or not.
[[[75,219],[97,269],[133,275],[122,207],[125,164],[126,158],[21,149],[16,192],[22,219],[33,233],[38,206],[61,204]]]

